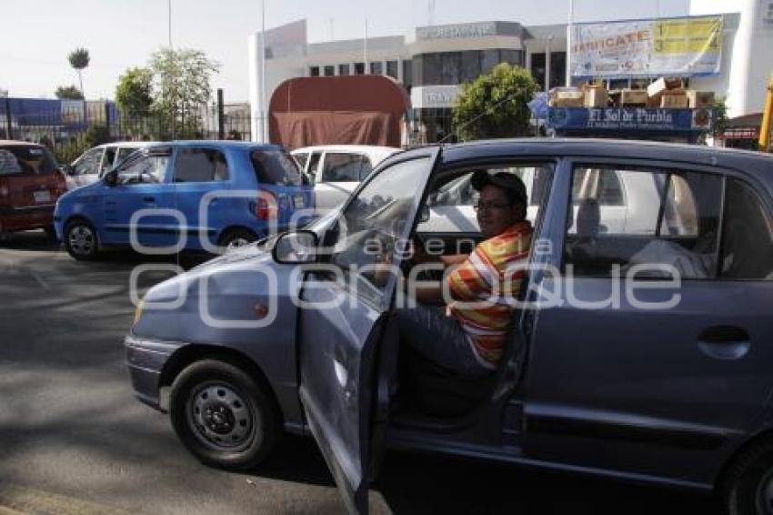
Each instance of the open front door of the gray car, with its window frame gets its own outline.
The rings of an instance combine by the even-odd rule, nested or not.
[[[388,401],[382,397],[375,405],[376,358],[393,307],[400,250],[439,154],[437,147],[401,154],[368,178],[323,238],[326,269],[308,271],[301,293],[300,399],[353,513],[367,512],[370,463],[383,450],[383,442],[372,441],[373,415]]]

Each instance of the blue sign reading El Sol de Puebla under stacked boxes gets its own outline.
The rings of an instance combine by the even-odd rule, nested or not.
[[[642,132],[702,132],[711,128],[711,109],[653,109],[646,107],[551,107],[548,128]]]

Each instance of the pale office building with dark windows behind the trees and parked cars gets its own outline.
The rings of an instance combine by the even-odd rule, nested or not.
[[[728,115],[759,112],[773,71],[773,0],[692,0],[691,15],[722,15],[719,73],[686,77],[689,86],[727,96]],[[412,142],[431,143],[451,133],[451,111],[461,85],[498,63],[524,66],[545,90],[566,86],[567,25],[524,26],[491,21],[422,26],[405,36],[310,44],[306,21],[250,36],[250,106],[253,138],[266,140],[267,105],[277,86],[298,76],[378,74],[407,88]],[[261,53],[265,59],[261,59]],[[752,62],[754,65],[752,66]],[[574,78],[580,84],[587,77]],[[610,88],[647,86],[657,76],[607,80]],[[264,123],[261,123],[263,121]]]

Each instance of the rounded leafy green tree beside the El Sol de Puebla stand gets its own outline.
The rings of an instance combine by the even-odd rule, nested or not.
[[[528,135],[531,115],[527,102],[537,89],[527,70],[507,63],[462,85],[453,110],[458,136],[472,140]]]

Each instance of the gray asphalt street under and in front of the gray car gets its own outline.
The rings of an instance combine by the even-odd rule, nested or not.
[[[214,470],[165,415],[136,401],[122,341],[134,313],[129,276],[143,262],[128,253],[76,262],[35,231],[0,243],[0,515],[343,511],[313,440],[286,437],[250,473]],[[692,493],[394,452],[370,504],[376,513],[720,512]]]

